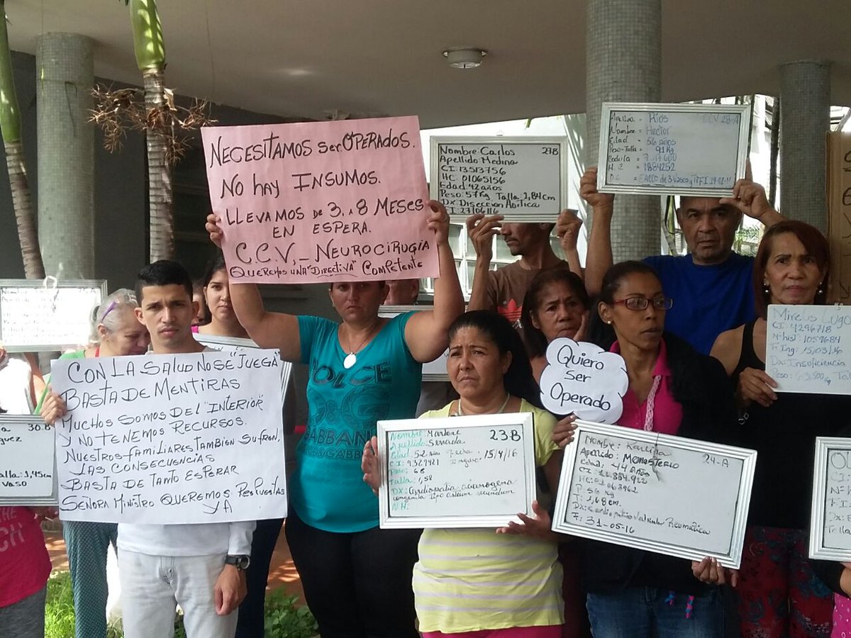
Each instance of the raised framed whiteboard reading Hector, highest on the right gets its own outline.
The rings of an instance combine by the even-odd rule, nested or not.
[[[729,197],[745,177],[750,106],[603,103],[597,190]]]

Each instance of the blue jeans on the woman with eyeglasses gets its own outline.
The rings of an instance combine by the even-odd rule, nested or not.
[[[617,594],[589,594],[594,638],[723,638],[724,614],[717,590],[689,596],[655,587],[628,587]]]

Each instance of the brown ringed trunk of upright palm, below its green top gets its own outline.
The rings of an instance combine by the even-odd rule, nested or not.
[[[145,106],[163,108],[163,71],[145,71]],[[152,118],[151,118],[152,119]],[[171,188],[171,166],[168,163],[168,140],[156,128],[148,128],[148,202],[150,203],[151,262],[174,258],[174,205]]]

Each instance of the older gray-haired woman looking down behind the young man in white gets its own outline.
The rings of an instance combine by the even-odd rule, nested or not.
[[[66,352],[60,359],[141,355],[151,343],[147,328],[136,319],[135,293],[119,288],[92,311],[92,343],[83,350]],[[37,412],[45,422],[57,418],[56,395],[48,390]],[[77,638],[106,638],[106,553],[116,544],[117,524],[63,521],[68,567],[74,590]]]

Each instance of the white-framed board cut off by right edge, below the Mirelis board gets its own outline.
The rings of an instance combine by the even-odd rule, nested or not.
[[[851,561],[851,439],[817,436],[809,557]]]

